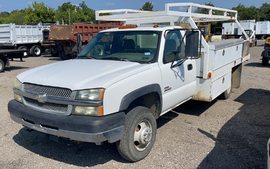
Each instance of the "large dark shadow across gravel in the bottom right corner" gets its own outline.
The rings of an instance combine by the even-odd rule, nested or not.
[[[216,141],[216,146],[198,169],[264,169],[270,138],[270,91],[249,89],[234,101],[243,106],[219,130],[217,137],[198,129]]]

